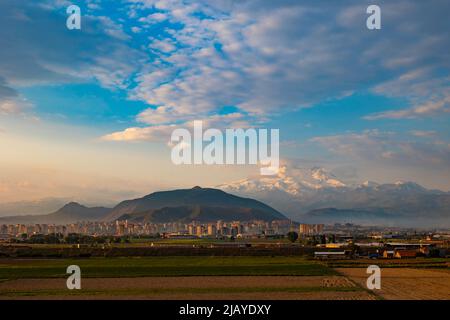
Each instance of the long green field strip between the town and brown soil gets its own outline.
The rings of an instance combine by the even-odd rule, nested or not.
[[[0,279],[63,278],[78,265],[88,278],[150,276],[335,275],[322,263],[302,257],[143,257],[0,260]]]

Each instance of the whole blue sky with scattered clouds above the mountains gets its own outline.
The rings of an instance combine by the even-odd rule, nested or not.
[[[81,30],[66,27],[71,4]],[[194,120],[279,129],[287,170],[449,191],[449,13],[446,0],[2,0],[0,202],[107,203],[259,172],[172,164],[170,135]]]

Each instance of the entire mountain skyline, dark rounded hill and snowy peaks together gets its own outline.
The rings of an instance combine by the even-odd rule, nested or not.
[[[0,223],[271,221],[287,219],[285,215],[304,223],[450,227],[450,193],[414,182],[349,183],[323,168],[294,168],[288,173],[283,167],[278,176],[245,179],[217,189],[155,192],[112,209],[69,203],[51,214],[3,217]]]

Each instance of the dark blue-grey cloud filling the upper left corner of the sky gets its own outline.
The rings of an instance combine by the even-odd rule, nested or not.
[[[98,80],[108,88],[125,88],[142,53],[128,46],[123,26],[106,16],[83,15],[82,32],[68,34],[61,10],[66,4],[0,2],[0,69],[8,86]]]

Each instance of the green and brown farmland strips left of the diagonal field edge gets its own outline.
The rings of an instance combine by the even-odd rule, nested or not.
[[[82,290],[66,289],[79,265]],[[374,299],[322,263],[302,257],[145,257],[0,260],[0,298]],[[323,285],[332,281],[331,287]]]

